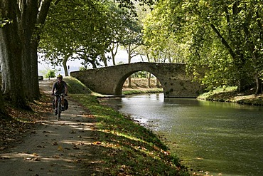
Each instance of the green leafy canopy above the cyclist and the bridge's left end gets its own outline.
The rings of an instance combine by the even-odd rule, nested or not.
[[[124,43],[127,33],[136,29],[132,18],[129,10],[119,8],[113,1],[67,0],[53,4],[40,51],[46,61],[56,66],[77,58],[83,65],[97,68],[111,43]]]

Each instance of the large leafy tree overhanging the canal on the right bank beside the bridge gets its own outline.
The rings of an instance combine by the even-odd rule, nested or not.
[[[203,64],[210,68],[203,81],[211,86],[236,84],[242,92],[255,82],[252,77],[258,80],[262,70],[259,1],[160,1],[156,9],[159,16],[167,16],[163,23],[167,33],[188,44],[188,69],[195,72]]]

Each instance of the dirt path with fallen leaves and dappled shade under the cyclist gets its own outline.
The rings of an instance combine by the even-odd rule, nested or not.
[[[53,81],[40,81],[50,94]],[[28,135],[23,143],[0,153],[0,175],[92,175],[95,154],[94,119],[72,100],[61,120],[48,114],[41,128]],[[96,174],[98,175],[98,174]]]

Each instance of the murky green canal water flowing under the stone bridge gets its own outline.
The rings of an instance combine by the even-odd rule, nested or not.
[[[121,113],[162,136],[182,164],[203,175],[263,175],[263,108],[163,94],[112,98]]]

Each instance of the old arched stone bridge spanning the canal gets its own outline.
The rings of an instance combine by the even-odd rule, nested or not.
[[[186,75],[185,70],[185,64],[139,62],[73,71],[70,76],[97,93],[122,96],[126,79],[138,71],[147,71],[159,79],[165,98],[196,98],[203,88],[193,82],[193,76]]]

